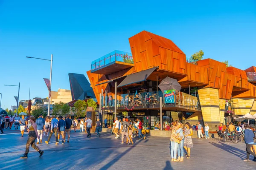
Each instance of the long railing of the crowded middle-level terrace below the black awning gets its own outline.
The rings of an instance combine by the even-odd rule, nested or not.
[[[177,91],[175,93],[174,103],[165,103],[162,91],[145,92],[137,94],[121,94],[117,95],[117,108],[120,107],[135,107],[142,108],[156,107],[160,105],[160,97],[162,97],[163,107],[170,107],[172,105],[180,105],[188,108],[200,110],[200,104],[197,97]],[[113,108],[115,104],[114,96],[103,95],[102,107]]]

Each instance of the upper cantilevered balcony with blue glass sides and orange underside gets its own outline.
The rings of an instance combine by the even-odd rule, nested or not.
[[[115,50],[91,63],[91,73],[113,74],[134,66],[131,53]]]

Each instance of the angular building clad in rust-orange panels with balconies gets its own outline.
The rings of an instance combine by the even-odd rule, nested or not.
[[[140,117],[153,128],[164,96],[158,85],[166,77],[176,79],[181,89],[175,91],[174,103],[163,100],[165,124],[176,119],[201,121],[215,131],[235,115],[256,113],[256,67],[227,68],[213,59],[195,65],[186,61],[186,54],[172,40],[147,31],[129,42],[131,53],[113,51],[93,61],[87,71],[98,101],[102,94],[102,113],[107,113],[103,116],[111,117],[116,102],[118,116]]]

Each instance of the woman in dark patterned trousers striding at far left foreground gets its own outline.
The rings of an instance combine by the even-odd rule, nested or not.
[[[31,145],[36,151],[39,152],[39,157],[43,156],[44,151],[40,150],[38,146],[35,145],[35,139],[39,138],[38,132],[37,132],[37,126],[35,124],[35,117],[30,116],[30,122],[32,125],[29,127],[29,138],[26,142],[26,151],[23,156],[20,156],[20,158],[28,158],[29,153],[29,145]],[[28,129],[28,127],[26,127]]]

